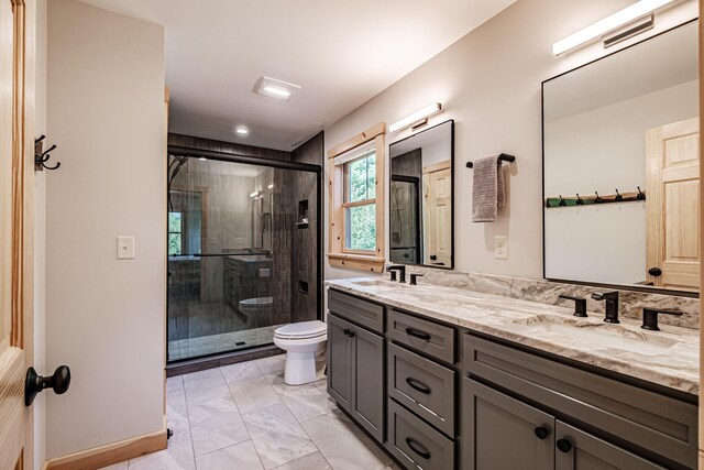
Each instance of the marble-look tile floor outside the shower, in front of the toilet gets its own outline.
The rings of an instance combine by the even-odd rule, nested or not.
[[[161,452],[110,470],[398,469],[340,412],[322,374],[284,384],[284,356],[169,378]]]

